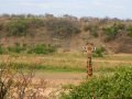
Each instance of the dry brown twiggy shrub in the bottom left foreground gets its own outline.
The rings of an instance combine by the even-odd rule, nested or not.
[[[26,70],[21,69],[24,66],[21,63],[0,63],[0,99],[47,99],[47,96],[42,95],[47,81],[40,79],[35,84],[32,82],[35,75],[33,65]]]

